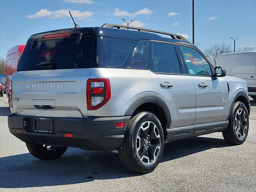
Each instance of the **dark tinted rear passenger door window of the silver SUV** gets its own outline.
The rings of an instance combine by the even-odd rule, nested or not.
[[[150,69],[154,72],[181,73],[174,45],[152,42]]]

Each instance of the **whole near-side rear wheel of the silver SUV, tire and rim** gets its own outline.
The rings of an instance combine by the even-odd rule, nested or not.
[[[153,113],[141,112],[130,119],[118,148],[119,158],[126,169],[140,174],[152,172],[158,166],[163,151],[163,128]]]

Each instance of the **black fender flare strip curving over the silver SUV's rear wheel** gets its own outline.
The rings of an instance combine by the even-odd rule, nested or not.
[[[153,103],[158,105],[164,112],[165,117],[166,117],[166,129],[170,128],[171,126],[171,114],[169,111],[168,106],[165,104],[165,102],[159,98],[156,97],[154,95],[145,95],[145,96],[141,96],[140,98],[136,99],[126,110],[125,112],[125,116],[130,116],[133,114],[133,112],[136,110],[136,108],[138,108],[139,106],[141,106],[142,104],[145,103]]]

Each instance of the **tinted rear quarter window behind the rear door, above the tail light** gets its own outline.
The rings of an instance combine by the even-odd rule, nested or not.
[[[133,40],[107,38],[107,67],[123,68],[137,43]]]

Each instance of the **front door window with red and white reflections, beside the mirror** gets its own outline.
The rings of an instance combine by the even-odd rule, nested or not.
[[[180,49],[182,51],[190,74],[208,76],[212,75],[212,71],[208,62],[197,50],[184,46],[180,46]]]

